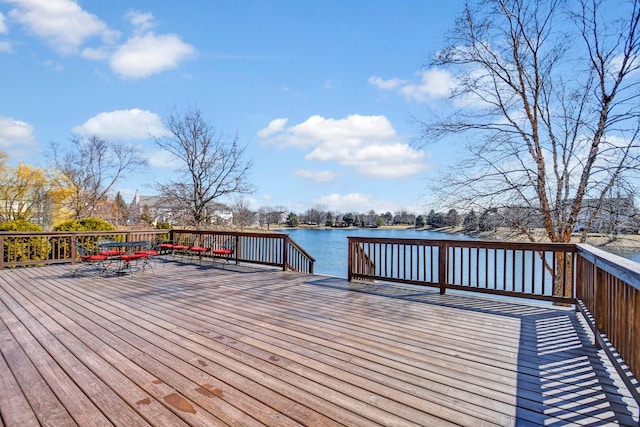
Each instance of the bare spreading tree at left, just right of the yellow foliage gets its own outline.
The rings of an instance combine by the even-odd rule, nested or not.
[[[118,181],[147,166],[136,147],[111,143],[97,136],[73,138],[66,150],[54,143],[51,157],[61,177],[59,185],[70,194],[66,207],[75,218],[92,216]]]

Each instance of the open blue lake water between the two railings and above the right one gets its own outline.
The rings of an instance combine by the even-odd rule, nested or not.
[[[462,233],[451,234],[413,229],[295,228],[281,231],[288,234],[316,259],[314,267],[316,273],[338,277],[347,277],[347,237],[470,240],[469,236]]]

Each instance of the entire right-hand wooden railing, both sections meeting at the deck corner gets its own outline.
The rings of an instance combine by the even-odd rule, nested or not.
[[[349,280],[575,304],[640,403],[640,264],[580,244],[349,237],[348,253]]]

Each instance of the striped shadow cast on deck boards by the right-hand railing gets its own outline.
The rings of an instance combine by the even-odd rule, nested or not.
[[[418,286],[349,283],[337,278],[306,283],[519,319],[516,419],[544,425],[638,425],[636,403],[574,310],[455,291],[443,296]],[[491,366],[492,361],[486,363]]]

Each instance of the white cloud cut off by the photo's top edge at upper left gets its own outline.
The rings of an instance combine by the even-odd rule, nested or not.
[[[8,0],[15,7],[9,17],[43,39],[55,51],[78,53],[89,39],[113,42],[118,32],[109,29],[97,16],[84,11],[73,0]]]

